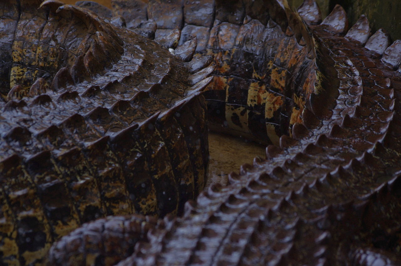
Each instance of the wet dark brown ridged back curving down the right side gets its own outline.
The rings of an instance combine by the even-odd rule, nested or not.
[[[149,1],[148,15],[152,4],[162,2]],[[191,3],[177,2],[174,16],[180,14],[178,18],[182,19],[177,21],[184,21],[180,24],[183,32],[185,27],[205,30],[200,34],[208,36],[205,50],[212,50],[219,58],[216,82],[209,85],[206,93],[213,95],[209,107],[216,113],[209,113],[211,119],[217,117],[223,127],[229,125],[227,110],[234,103],[229,97],[241,95],[238,99],[243,103],[238,108],[245,111],[237,115],[249,122],[245,114],[250,109],[245,99],[249,99],[250,87],[237,83],[236,90],[246,93],[231,95],[227,93],[235,91],[230,89],[231,84],[218,81],[235,79],[235,71],[247,78],[255,71],[248,67],[254,63],[252,55],[244,55],[251,45],[245,49],[239,42],[243,38],[239,33],[242,27],[247,36],[255,34],[258,40],[264,37],[258,35],[260,32],[276,27],[269,36],[275,46],[272,49],[279,55],[265,58],[265,63],[275,60],[273,67],[264,68],[271,71],[266,91],[277,81],[273,80],[273,70],[288,67],[286,53],[297,45],[307,46],[304,36],[312,36],[315,53],[302,59],[306,65],[314,60],[313,67],[305,66],[299,73],[314,75],[310,79],[313,89],[297,95],[304,97],[304,103],[298,123],[290,127],[292,137],[277,137],[273,141],[276,145],[267,146],[266,160],[255,159],[253,165],[243,165],[239,174],[229,176],[229,185],[212,185],[196,202],[188,202],[182,218],[155,226],[147,240],[136,246],[134,254],[117,265],[398,265],[399,41],[389,45],[383,30],[370,36],[365,16],[348,30],[346,14],[340,6],[321,21],[314,1],[304,1],[298,15],[287,8],[286,1],[263,1],[264,5],[256,8],[259,17],[246,17],[252,14],[249,5],[257,1]],[[214,7],[205,8],[211,14],[211,20],[203,20],[207,25],[196,24],[197,16],[186,18],[188,12],[196,12],[198,4],[201,8],[207,4]],[[180,8],[182,12],[177,11]],[[284,15],[280,16],[279,10]],[[167,12],[166,16],[172,15]],[[298,16],[310,24],[307,31],[311,34],[303,34],[302,24],[294,22]],[[259,23],[260,30],[258,26],[245,30],[244,25]],[[222,29],[217,30],[219,25]],[[207,32],[205,27],[211,30]],[[293,37],[288,36],[291,34]],[[267,40],[264,49],[269,49],[268,37],[263,40]],[[239,54],[234,55],[236,50]],[[241,56],[243,62],[239,60]],[[281,58],[284,65],[276,61]],[[281,80],[298,82],[293,89],[308,83],[305,76],[297,78],[293,73],[297,72],[285,72]],[[216,88],[224,89],[219,95]],[[216,107],[215,102],[221,107]],[[264,130],[265,122],[259,129]]]

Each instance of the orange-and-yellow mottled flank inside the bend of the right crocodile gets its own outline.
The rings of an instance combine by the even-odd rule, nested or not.
[[[207,54],[215,56],[217,67],[206,95],[213,99],[213,112],[217,110],[215,117],[219,117],[213,123],[223,124],[214,129],[227,127],[236,135],[277,144],[300,121],[305,100],[299,95],[310,90],[310,85],[304,86],[309,80],[300,73],[309,73],[313,61],[306,57],[308,47],[297,42],[290,28],[283,32],[271,20],[267,26],[257,20],[244,23],[238,29],[222,22],[211,30]],[[260,127],[266,127],[266,132],[261,134]]]

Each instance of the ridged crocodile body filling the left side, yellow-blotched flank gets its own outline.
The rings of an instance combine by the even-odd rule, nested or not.
[[[0,3],[0,264],[96,218],[182,212],[205,184],[213,69],[86,9]]]

